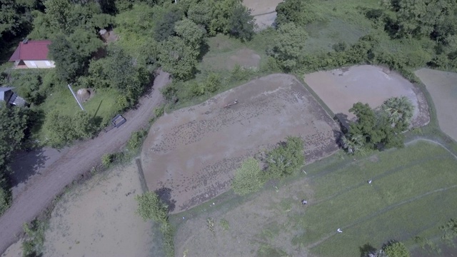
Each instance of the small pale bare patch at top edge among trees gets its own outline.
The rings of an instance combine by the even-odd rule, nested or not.
[[[243,0],[243,4],[251,9],[251,14],[256,19],[258,29],[266,29],[276,19],[276,6],[282,0]]]

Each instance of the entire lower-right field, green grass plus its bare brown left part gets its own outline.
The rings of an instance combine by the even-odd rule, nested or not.
[[[205,203],[173,216],[177,238],[189,230],[201,235],[201,239],[185,243],[178,239],[176,247],[189,248],[189,253],[198,256],[208,252],[193,246],[214,240],[258,256],[308,252],[331,257],[361,256],[364,246],[381,248],[383,243],[397,240],[422,251],[414,241],[416,236],[441,245],[439,226],[456,218],[456,166],[452,153],[427,141],[356,161],[336,153],[306,166],[306,175],[276,183],[277,188],[266,186],[243,198],[228,192],[213,200],[219,208]],[[307,206],[301,205],[301,198],[308,199]],[[183,223],[182,216],[192,218]],[[229,221],[229,236],[216,231],[215,239],[209,239],[204,228],[191,225],[207,217]],[[248,238],[243,239],[248,243],[240,245],[239,238]],[[214,248],[213,253],[224,247]]]

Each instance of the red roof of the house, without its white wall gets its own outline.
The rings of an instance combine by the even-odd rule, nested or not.
[[[31,40],[27,41],[25,44],[21,41],[9,61],[48,60],[49,44],[51,44],[51,41],[49,40]]]

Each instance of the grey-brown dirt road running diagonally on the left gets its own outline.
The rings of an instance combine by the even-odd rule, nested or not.
[[[22,224],[34,219],[67,184],[96,166],[104,153],[118,151],[132,132],[148,124],[154,107],[163,101],[159,89],[168,82],[169,74],[161,71],[154,81],[154,90],[140,100],[136,110],[124,115],[126,124],[119,129],[102,132],[92,140],[77,143],[59,160],[38,171],[39,176],[34,178],[33,183],[27,184],[27,188],[16,196],[11,208],[0,217],[0,253],[17,240]]]

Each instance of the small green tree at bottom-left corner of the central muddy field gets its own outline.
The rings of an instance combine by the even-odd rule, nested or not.
[[[161,201],[155,192],[146,192],[135,196],[138,203],[136,213],[144,221],[153,220],[157,223],[168,223],[168,206]]]

